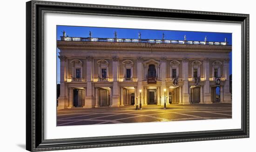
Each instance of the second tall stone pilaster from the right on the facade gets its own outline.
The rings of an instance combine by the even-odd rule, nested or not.
[[[203,61],[205,84],[203,86],[203,103],[212,103],[210,94],[210,82],[209,82],[209,58],[205,58]]]

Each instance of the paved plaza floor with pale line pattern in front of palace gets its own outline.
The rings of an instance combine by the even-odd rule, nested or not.
[[[148,105],[141,110],[136,110],[135,106],[71,108],[58,110],[57,126],[230,118],[232,105],[228,103],[171,104],[167,109],[163,109],[163,106]]]

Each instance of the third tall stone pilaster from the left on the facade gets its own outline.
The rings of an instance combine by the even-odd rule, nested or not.
[[[118,86],[118,57],[112,57],[112,67],[113,67],[113,88],[112,88],[112,104],[111,107],[119,107],[119,86]]]

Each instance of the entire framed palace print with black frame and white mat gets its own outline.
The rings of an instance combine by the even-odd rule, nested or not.
[[[27,2],[27,150],[249,137],[249,15]]]

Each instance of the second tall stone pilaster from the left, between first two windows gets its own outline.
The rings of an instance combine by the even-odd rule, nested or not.
[[[93,108],[94,107],[94,93],[93,93],[93,84],[92,84],[92,66],[93,66],[93,57],[86,57],[86,79],[87,79],[87,86],[86,86],[86,104],[84,108]]]

